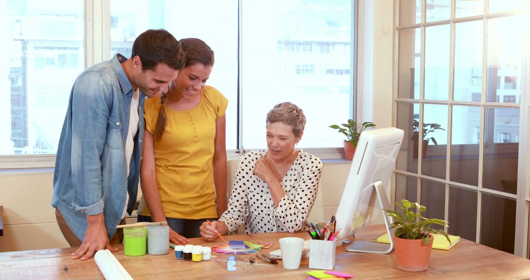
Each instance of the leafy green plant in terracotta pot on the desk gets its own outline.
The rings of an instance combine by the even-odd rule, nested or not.
[[[429,267],[430,251],[434,237],[432,233],[443,234],[451,243],[444,230],[432,229],[433,224],[447,226],[447,222],[437,218],[425,218],[421,216],[427,208],[418,203],[410,203],[403,199],[401,203],[394,203],[403,210],[403,214],[383,209],[393,219],[391,229],[396,229],[392,240],[396,251],[396,264],[401,270],[409,272],[420,272]],[[414,208],[419,213],[414,212]]]

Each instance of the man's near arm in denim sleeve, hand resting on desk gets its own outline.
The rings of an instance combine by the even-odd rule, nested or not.
[[[86,214],[87,229],[83,243],[72,254],[73,259],[89,259],[97,250],[109,249],[109,236],[104,224],[101,155],[107,141],[112,95],[98,72],[84,73],[74,85],[72,95],[72,179],[75,211]],[[116,116],[117,118],[118,116]],[[111,133],[121,133],[121,120]],[[119,124],[118,124],[119,123]],[[112,124],[110,124],[112,126]],[[122,148],[123,143],[112,143]]]

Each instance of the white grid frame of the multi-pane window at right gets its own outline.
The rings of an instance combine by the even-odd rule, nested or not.
[[[528,19],[528,15],[530,14],[530,4],[525,2],[525,6],[523,7],[523,12],[519,11],[506,11],[506,12],[499,12],[499,13],[493,13],[490,14],[488,10],[489,1],[484,0],[484,11],[483,14],[477,15],[477,16],[468,16],[468,17],[456,17],[455,16],[455,4],[456,0],[451,0],[451,16],[448,20],[442,20],[442,21],[432,21],[427,22],[426,21],[426,0],[421,0],[421,22],[415,23],[415,24],[407,24],[407,25],[400,25],[400,3],[401,1],[398,1],[395,6],[395,42],[394,42],[394,50],[395,50],[395,62],[394,62],[394,92],[393,92],[393,100],[394,100],[394,108],[397,108],[398,104],[419,104],[420,107],[420,113],[419,113],[419,119],[420,122],[423,121],[423,106],[425,104],[444,104],[448,106],[448,127],[447,127],[447,152],[446,152],[446,176],[444,179],[439,178],[433,178],[429,176],[425,176],[421,174],[421,161],[418,161],[418,171],[416,173],[409,172],[409,171],[403,171],[403,170],[394,170],[395,174],[400,174],[402,176],[411,176],[415,177],[418,180],[418,191],[417,191],[417,201],[420,202],[420,194],[421,194],[421,181],[422,180],[430,180],[439,182],[445,185],[445,204],[444,204],[444,211],[445,211],[445,217],[444,220],[448,220],[448,208],[449,208],[449,188],[450,187],[458,187],[463,188],[467,190],[474,190],[477,193],[477,212],[476,212],[476,239],[473,240],[475,242],[480,241],[480,231],[481,231],[481,206],[482,206],[482,194],[488,194],[488,195],[494,195],[499,196],[502,198],[510,198],[516,200],[516,225],[515,225],[515,244],[514,244],[514,255],[517,256],[530,256],[530,232],[528,231],[528,225],[530,224],[530,174],[526,172],[528,168],[530,168],[530,155],[529,153],[529,147],[530,147],[530,137],[528,137],[528,133],[530,132],[530,121],[526,118],[530,114],[530,98],[528,98],[528,95],[530,95],[530,51],[528,48],[523,48],[523,63],[522,63],[522,75],[521,75],[521,81],[520,82],[520,102],[519,103],[500,103],[499,100],[497,102],[486,102],[486,83],[487,83],[487,36],[488,36],[488,21],[491,19],[497,19],[499,17],[508,17],[513,15],[522,15],[523,20],[526,23],[523,28],[523,36],[524,42],[530,42],[530,36],[528,35],[528,32],[530,31],[530,28],[528,27],[530,20]],[[482,20],[484,22],[483,25],[483,53],[482,53],[482,87],[481,87],[481,100],[479,102],[477,101],[455,101],[454,100],[454,59],[455,59],[455,24],[456,23],[462,23],[462,22],[470,22],[475,20]],[[449,95],[447,101],[437,101],[437,100],[426,100],[424,99],[424,87],[425,87],[425,29],[427,27],[432,27],[435,25],[440,24],[449,24],[450,27],[450,41],[449,41]],[[408,99],[408,98],[400,98],[399,92],[398,92],[398,62],[399,62],[399,32],[403,30],[408,29],[417,29],[420,28],[421,30],[421,59],[420,59],[420,96],[419,99]],[[499,95],[497,95],[497,98]],[[451,133],[452,133],[452,108],[453,106],[478,106],[481,108],[481,126],[484,127],[486,125],[486,120],[484,120],[484,112],[486,108],[516,108],[519,109],[519,150],[518,150],[518,170],[517,170],[517,192],[516,194],[508,194],[502,191],[487,189],[482,187],[482,174],[483,174],[483,160],[484,160],[484,129],[480,129],[480,152],[479,152],[479,182],[478,187],[476,186],[470,186],[463,183],[458,183],[450,180],[449,177],[449,170],[451,163],[451,145],[449,139],[451,139]],[[397,110],[394,109],[392,113],[392,124],[396,126],[398,117],[397,117]],[[420,128],[421,129],[421,128]],[[421,132],[420,132],[421,133]],[[421,154],[421,148],[422,146],[419,145],[419,151],[418,153]],[[395,184],[392,185],[392,198],[395,199]],[[421,202],[420,202],[421,203]],[[447,230],[447,229],[446,229]]]

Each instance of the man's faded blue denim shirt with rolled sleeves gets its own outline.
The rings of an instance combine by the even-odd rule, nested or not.
[[[129,214],[136,203],[146,97],[140,91],[139,128],[127,178],[125,142],[134,88],[120,64],[126,60],[118,54],[87,68],[70,92],[57,148],[51,206],[59,209],[81,241],[86,215],[103,213],[110,239],[120,223],[127,191]]]

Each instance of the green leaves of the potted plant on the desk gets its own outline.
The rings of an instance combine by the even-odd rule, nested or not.
[[[403,210],[403,214],[390,210],[383,209],[389,217],[392,217],[394,222],[391,229],[396,229],[394,235],[402,239],[423,239],[423,244],[430,243],[429,233],[443,234],[447,241],[449,236],[444,230],[435,230],[430,226],[433,224],[448,226],[447,222],[437,218],[424,218],[421,216],[422,212],[427,211],[427,207],[415,203],[410,203],[407,199],[402,199],[401,203],[394,203]],[[414,208],[419,210],[419,213],[414,212]]]

